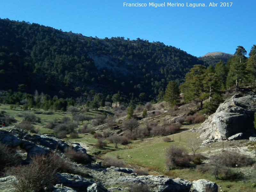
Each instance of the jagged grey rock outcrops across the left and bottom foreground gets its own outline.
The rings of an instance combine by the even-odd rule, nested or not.
[[[32,156],[58,153],[64,156],[66,148],[71,147],[79,153],[86,154],[86,149],[79,143],[69,143],[55,138],[52,135],[32,134],[19,128],[8,131],[0,130],[0,142],[11,148],[21,148],[21,156],[25,162],[29,162]],[[138,176],[133,169],[110,167],[105,168],[99,162],[87,161],[86,164],[74,166],[85,169],[88,177],[70,173],[56,173],[55,192],[107,192],[107,191],[129,191],[130,186],[140,184],[147,185],[155,192],[204,192],[206,189],[218,191],[216,183],[207,180],[188,181],[184,179],[170,179],[165,176],[144,175]],[[13,183],[17,180],[15,176],[0,178],[1,191],[14,191]],[[138,185],[138,186],[140,186]]]

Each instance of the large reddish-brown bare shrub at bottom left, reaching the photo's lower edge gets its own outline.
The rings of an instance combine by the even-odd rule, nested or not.
[[[19,192],[35,192],[51,190],[55,182],[56,166],[51,157],[35,156],[28,165],[12,167],[8,175],[14,175],[17,181],[12,182]]]

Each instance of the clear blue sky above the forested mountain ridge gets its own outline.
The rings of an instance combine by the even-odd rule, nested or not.
[[[149,7],[164,3],[165,7]],[[184,7],[170,7],[167,3]],[[217,4],[210,7],[210,3]],[[220,2],[232,2],[220,7]],[[124,7],[124,3],[147,7]],[[206,7],[187,7],[191,3]],[[227,5],[227,4],[226,4]],[[256,44],[255,0],[1,0],[0,18],[29,21],[92,37],[125,37],[160,41],[194,56],[220,51],[247,53]]]

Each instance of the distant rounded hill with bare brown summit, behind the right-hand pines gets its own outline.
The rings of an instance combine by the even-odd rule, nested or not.
[[[199,57],[198,59],[204,61],[206,65],[212,65],[214,67],[216,63],[220,62],[220,60],[226,64],[231,57],[233,57],[233,55],[229,53],[210,52],[202,57]]]

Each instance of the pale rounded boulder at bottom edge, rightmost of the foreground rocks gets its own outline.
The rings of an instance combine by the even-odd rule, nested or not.
[[[218,192],[218,185],[212,181],[200,179],[197,181],[193,181],[193,188],[197,192]]]

